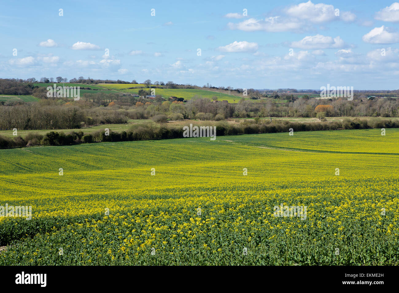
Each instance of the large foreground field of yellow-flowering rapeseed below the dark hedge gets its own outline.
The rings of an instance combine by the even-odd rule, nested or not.
[[[0,206],[32,219],[0,217],[0,264],[398,265],[398,136],[2,149]]]

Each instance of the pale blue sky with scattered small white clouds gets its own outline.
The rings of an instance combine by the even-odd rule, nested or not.
[[[0,38],[0,78],[399,88],[393,1],[3,1]]]

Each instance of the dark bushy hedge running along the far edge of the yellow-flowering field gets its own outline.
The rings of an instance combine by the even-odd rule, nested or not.
[[[211,125],[203,125],[211,126]],[[237,125],[228,124],[225,121],[217,122],[216,136],[240,135],[240,134],[261,134],[288,132],[292,128],[297,131],[316,131],[316,130],[343,130],[343,129],[371,129],[371,128],[399,128],[399,122],[392,120],[349,120],[342,122],[289,122],[284,120],[274,120],[259,123],[259,120],[246,120]],[[80,132],[48,132],[45,136],[30,132],[25,138],[17,136],[6,138],[0,135],[0,148],[27,147],[38,145],[65,146],[72,144],[92,143],[92,142],[126,142],[137,140],[164,140],[171,138],[183,138],[183,127],[166,126],[154,122],[145,124],[134,124],[128,132],[104,131],[92,132],[84,135]]]

